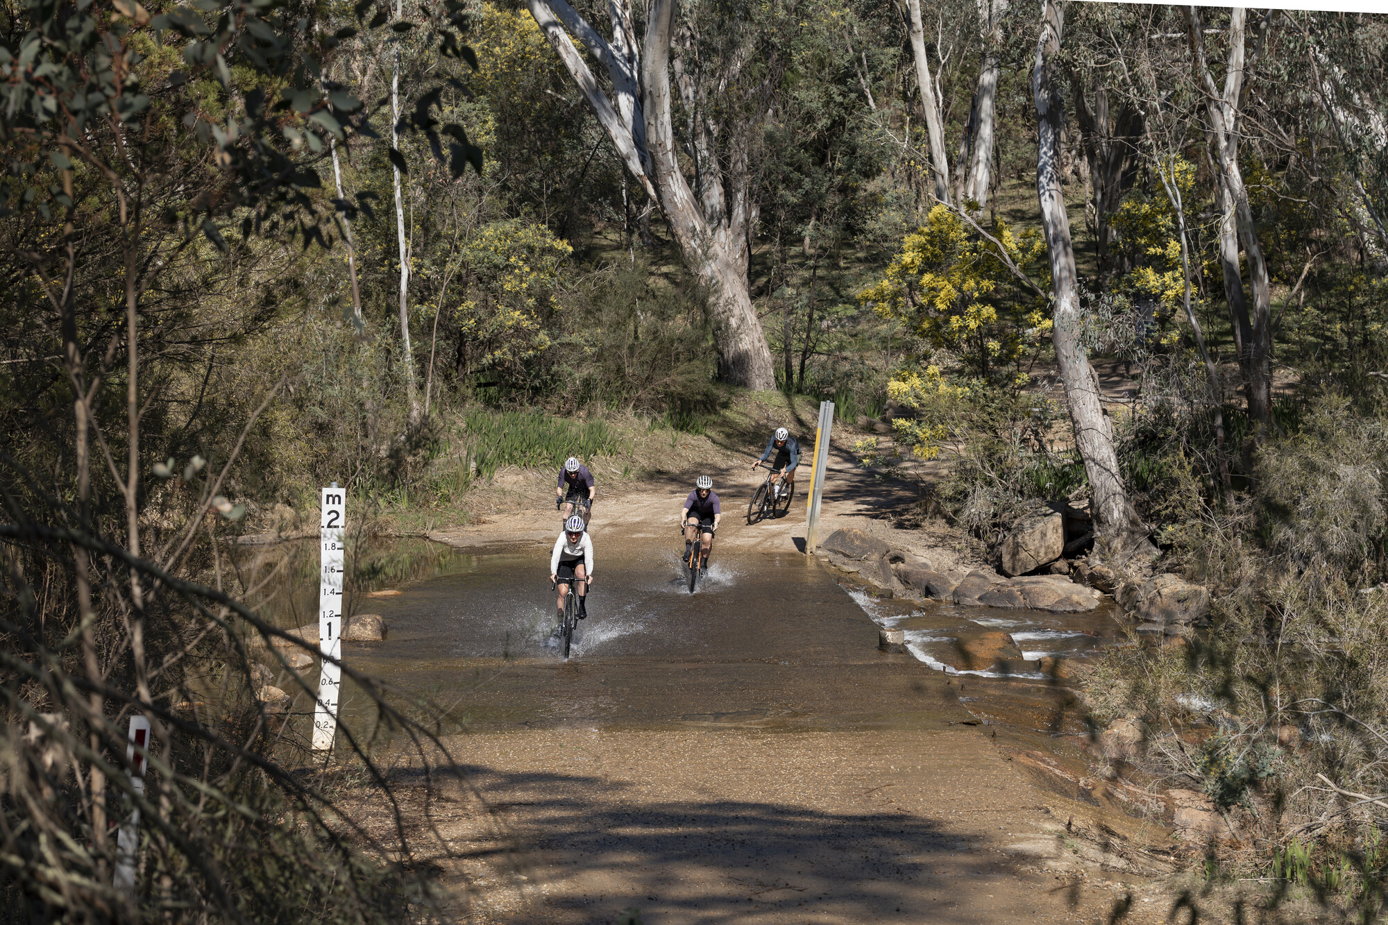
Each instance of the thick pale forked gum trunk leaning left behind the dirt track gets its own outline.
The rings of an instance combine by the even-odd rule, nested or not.
[[[526,7],[612,139],[622,164],[659,204],[686,264],[712,293],[709,308],[719,376],[750,389],[775,388],[770,350],[747,285],[747,240],[756,214],[745,185],[736,182],[748,172],[745,151],[740,156],[743,160],[733,158],[731,193],[712,169],[709,158],[700,158],[697,147],[701,194],[695,196],[680,169],[670,117],[669,74],[676,0],[651,3],[640,50],[630,0],[608,3],[611,40],[602,38],[566,0],[527,0]],[[612,97],[598,85],[575,40],[582,42],[607,69]],[[697,94],[693,85],[690,89]],[[705,132],[706,126],[697,125],[693,142],[711,144]],[[705,153],[712,154],[711,150]]]

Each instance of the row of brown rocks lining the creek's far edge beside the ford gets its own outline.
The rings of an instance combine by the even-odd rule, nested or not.
[[[920,556],[899,549],[859,529],[834,531],[819,546],[837,568],[856,574],[881,592],[902,597],[934,599],[963,607],[1010,607],[1078,612],[1099,606],[1102,593],[1076,585],[1066,575],[1023,575],[1006,578],[973,569],[963,575],[936,571]]]

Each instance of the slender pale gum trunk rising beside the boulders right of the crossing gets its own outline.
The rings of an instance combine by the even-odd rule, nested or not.
[[[1090,476],[1095,536],[1103,540],[1110,553],[1119,553],[1144,542],[1146,531],[1128,501],[1113,449],[1113,429],[1099,396],[1099,379],[1080,343],[1084,318],[1074,271],[1074,247],[1070,242],[1070,219],[1060,193],[1065,104],[1059,92],[1056,57],[1063,29],[1065,7],[1058,0],[1045,0],[1031,90],[1037,107],[1037,197],[1041,203],[1041,226],[1051,257],[1055,294],[1055,328],[1051,338],[1060,367],[1070,424],[1074,426],[1074,443]]]

